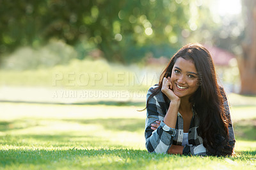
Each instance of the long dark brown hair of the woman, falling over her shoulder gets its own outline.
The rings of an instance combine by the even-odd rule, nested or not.
[[[193,61],[199,74],[199,87],[189,98],[189,102],[193,104],[193,109],[200,118],[198,135],[204,139],[204,146],[212,155],[232,155],[232,148],[228,146],[228,119],[225,116],[224,99],[221,95],[224,91],[218,86],[211,54],[204,46],[198,43],[188,44],[174,54],[161,73],[159,86],[148,97],[147,105],[150,98],[161,91],[163,78],[172,76],[173,65],[180,57]],[[165,95],[164,99],[167,101]]]

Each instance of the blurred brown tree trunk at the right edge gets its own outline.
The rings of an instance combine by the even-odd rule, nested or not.
[[[243,56],[238,58],[241,75],[241,93],[256,95],[256,1],[244,0],[246,26],[242,44]]]

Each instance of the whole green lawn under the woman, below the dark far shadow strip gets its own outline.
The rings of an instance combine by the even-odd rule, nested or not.
[[[138,105],[0,107],[0,169],[256,169],[256,119],[240,107],[232,108],[243,114],[232,114],[236,157],[147,153]]]

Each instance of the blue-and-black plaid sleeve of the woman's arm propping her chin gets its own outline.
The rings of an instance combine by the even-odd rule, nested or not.
[[[147,98],[151,94],[149,90]],[[146,148],[149,153],[166,153],[172,145],[173,136],[176,134],[175,128],[170,128],[163,122],[164,117],[161,113],[163,111],[155,96],[148,101],[147,119],[145,122]],[[152,130],[150,128],[151,123],[156,123],[157,120],[161,121],[160,126],[156,130]]]

